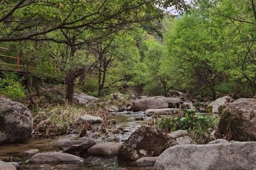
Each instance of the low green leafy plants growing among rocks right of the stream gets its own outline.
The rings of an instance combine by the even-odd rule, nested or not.
[[[161,129],[169,130],[170,132],[176,130],[187,130],[192,134],[193,139],[198,144],[209,142],[209,136],[219,122],[219,118],[212,116],[203,116],[189,109],[183,117],[179,118],[162,118],[157,122],[157,126]]]

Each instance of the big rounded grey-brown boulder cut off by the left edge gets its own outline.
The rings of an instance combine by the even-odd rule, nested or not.
[[[0,95],[0,144],[23,142],[33,129],[29,109]]]

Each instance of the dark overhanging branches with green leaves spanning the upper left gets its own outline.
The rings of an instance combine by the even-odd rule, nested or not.
[[[183,0],[179,0],[183,1]],[[109,30],[129,23],[147,22],[160,17],[163,10],[176,0],[4,0],[0,2],[0,42],[20,40],[51,40],[67,42],[50,34],[58,30]],[[186,8],[175,3],[175,8]],[[91,42],[94,38],[88,38]]]

